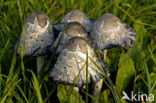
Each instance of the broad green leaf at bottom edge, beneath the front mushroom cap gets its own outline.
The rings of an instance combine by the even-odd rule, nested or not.
[[[60,103],[84,103],[81,95],[72,86],[59,84],[57,87],[57,96]]]

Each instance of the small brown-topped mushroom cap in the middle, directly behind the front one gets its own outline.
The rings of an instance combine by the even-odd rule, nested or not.
[[[57,51],[56,54],[59,54],[62,49],[63,45],[68,42],[69,39],[72,37],[82,37],[89,41],[88,34],[85,30],[85,28],[78,22],[70,22],[67,24],[67,27],[65,28],[65,32],[60,32],[57,39],[53,43],[53,45],[49,48],[51,52],[54,52],[57,45]]]

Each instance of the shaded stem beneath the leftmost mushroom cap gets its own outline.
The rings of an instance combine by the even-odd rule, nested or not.
[[[40,77],[40,71],[42,67],[44,66],[44,56],[37,57],[37,77]]]

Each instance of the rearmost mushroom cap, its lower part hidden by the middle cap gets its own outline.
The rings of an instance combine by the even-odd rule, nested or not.
[[[59,31],[62,31],[65,27],[65,23],[70,23],[70,22],[79,22],[82,24],[87,32],[90,32],[92,30],[93,22],[87,17],[85,13],[83,13],[80,10],[72,10],[66,16],[61,20],[60,25],[55,25],[55,28]]]

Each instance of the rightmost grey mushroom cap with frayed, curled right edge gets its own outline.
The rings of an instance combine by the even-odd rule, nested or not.
[[[136,33],[113,14],[104,14],[94,23],[90,38],[92,45],[100,50],[113,46],[128,49],[133,46]]]

